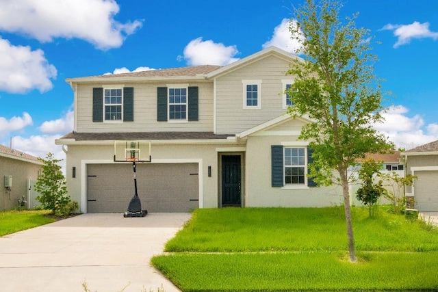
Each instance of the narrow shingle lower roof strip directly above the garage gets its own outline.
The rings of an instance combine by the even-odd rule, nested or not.
[[[213,132],[132,132],[132,133],[68,133],[60,139],[76,141],[105,140],[210,140],[227,139],[233,134],[216,135]]]

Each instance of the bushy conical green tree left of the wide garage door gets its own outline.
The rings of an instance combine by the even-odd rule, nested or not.
[[[57,215],[68,215],[65,209],[70,203],[67,196],[66,178],[62,174],[60,159],[55,159],[53,153],[49,152],[46,159],[38,157],[42,164],[42,174],[38,176],[34,189],[40,193],[36,197],[44,209],[51,210]],[[74,210],[73,210],[74,211]]]

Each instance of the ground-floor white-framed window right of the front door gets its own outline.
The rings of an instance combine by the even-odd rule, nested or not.
[[[306,148],[284,148],[285,185],[305,185]]]

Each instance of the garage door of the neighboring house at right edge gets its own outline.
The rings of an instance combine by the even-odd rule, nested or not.
[[[438,211],[438,171],[415,172],[415,209]]]

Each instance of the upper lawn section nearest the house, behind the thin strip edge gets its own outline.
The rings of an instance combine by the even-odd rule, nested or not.
[[[363,251],[438,251],[438,232],[387,213],[352,208],[356,248]],[[199,209],[166,252],[347,250],[343,207]]]

